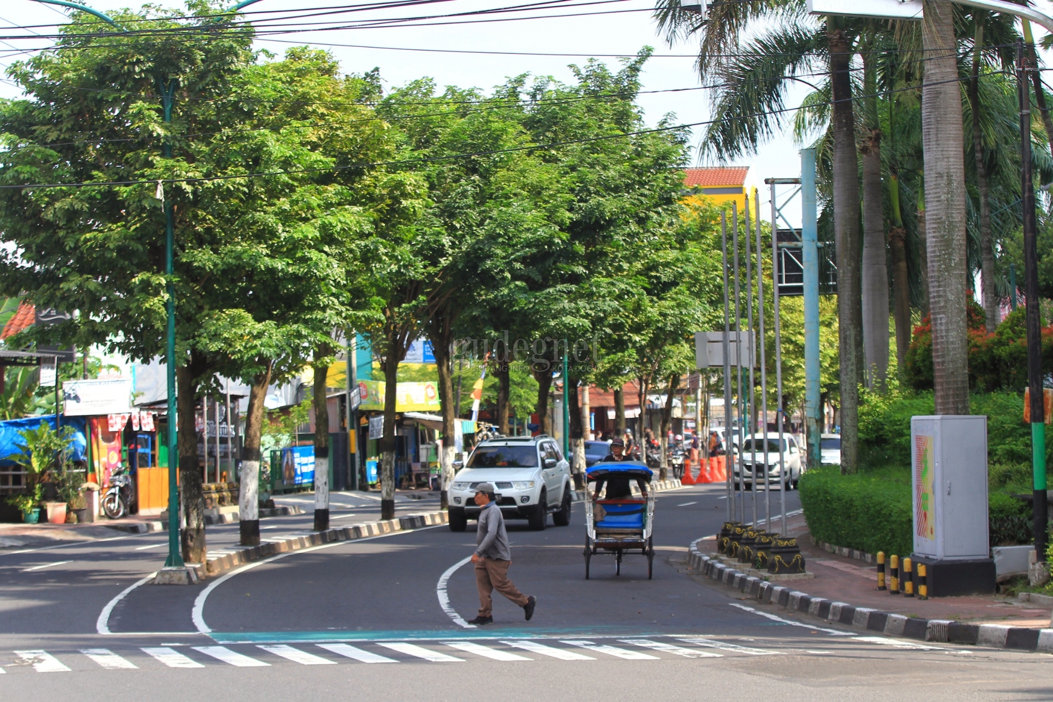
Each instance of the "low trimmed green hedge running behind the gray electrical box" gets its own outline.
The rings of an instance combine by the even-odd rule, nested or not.
[[[988,522],[992,546],[1032,541],[1027,502],[992,490]],[[823,466],[800,477],[800,502],[812,536],[819,541],[900,556],[914,549],[911,475],[906,468],[879,468],[842,476]]]

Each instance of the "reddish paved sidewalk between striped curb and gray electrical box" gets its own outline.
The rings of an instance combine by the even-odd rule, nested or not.
[[[773,526],[778,522],[773,520]],[[810,580],[794,580],[791,585],[813,598],[846,602],[855,607],[916,617],[927,620],[952,620],[970,624],[1002,624],[1027,628],[1050,626],[1051,607],[1000,595],[975,595],[918,600],[902,595],[890,595],[877,589],[877,568],[865,561],[831,554],[812,542],[803,515],[787,520],[789,536],[797,537],[806,568],[815,575]],[[716,554],[716,539],[702,539],[697,548],[706,555]],[[732,567],[736,567],[732,565]]]

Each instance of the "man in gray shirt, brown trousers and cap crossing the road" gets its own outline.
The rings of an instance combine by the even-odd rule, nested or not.
[[[509,580],[509,566],[512,565],[512,551],[509,548],[509,535],[504,530],[504,517],[501,509],[494,503],[494,486],[490,483],[479,483],[475,488],[475,503],[482,507],[479,513],[479,529],[475,537],[475,553],[472,562],[475,564],[475,583],[479,587],[479,615],[469,624],[493,624],[493,591],[509,598],[526,615],[526,621],[534,616],[533,596],[526,597]]]

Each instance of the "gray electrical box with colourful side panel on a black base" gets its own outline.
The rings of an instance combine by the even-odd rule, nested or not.
[[[994,589],[988,541],[987,417],[911,418],[914,559],[934,597]]]

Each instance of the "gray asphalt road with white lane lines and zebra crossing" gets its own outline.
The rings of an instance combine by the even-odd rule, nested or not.
[[[458,566],[474,522],[326,544],[197,586],[134,587],[104,617],[108,636],[100,614],[156,569],[163,536],[0,551],[0,698],[1053,698],[1049,656],[858,636],[689,577],[687,545],[719,528],[721,497],[659,494],[653,580],[633,555],[621,576],[594,558],[584,580],[579,505],[568,527],[510,521],[510,576],[537,611],[524,622],[495,594],[495,624],[479,628],[458,623],[478,606],[471,564]]]

